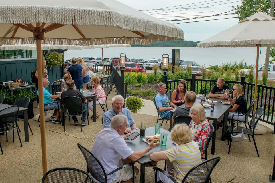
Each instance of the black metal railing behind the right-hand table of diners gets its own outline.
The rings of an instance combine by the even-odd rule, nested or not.
[[[167,81],[167,90],[174,90],[178,86],[178,80]],[[185,79],[187,90],[192,90],[196,94],[206,94],[209,93],[214,85],[216,85],[217,80],[210,79],[196,79],[196,74],[192,74],[192,79]],[[241,76],[241,81],[225,81],[225,84],[229,86],[232,90],[235,84],[241,84],[244,88],[244,94],[246,97],[247,104],[249,105],[254,99],[255,84],[245,82],[245,77]],[[232,94],[233,96],[233,94]],[[256,110],[260,107],[264,108],[264,115],[261,117],[261,121],[268,124],[274,125],[274,97],[275,88],[270,86],[258,85],[257,88],[257,101]],[[253,110],[252,110],[253,111]],[[251,116],[253,115],[253,112]]]

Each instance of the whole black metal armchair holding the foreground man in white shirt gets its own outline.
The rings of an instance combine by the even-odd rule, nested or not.
[[[129,163],[126,165],[123,165],[115,170],[113,170],[112,172],[110,172],[109,174],[106,174],[102,164],[99,162],[99,160],[84,146],[82,146],[81,144],[77,144],[78,148],[81,150],[86,163],[87,163],[87,172],[89,172],[92,176],[92,178],[94,180],[96,180],[97,182],[105,182],[107,183],[107,176],[111,175],[115,172],[117,172],[118,170],[128,167],[128,166],[132,166],[132,171],[133,171],[133,178],[132,181],[133,183],[135,182],[135,170],[134,170],[134,163]],[[106,155],[107,156],[107,155]]]

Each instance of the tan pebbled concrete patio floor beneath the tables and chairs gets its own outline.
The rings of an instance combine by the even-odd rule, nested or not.
[[[111,107],[111,99],[115,95],[112,91],[108,96],[108,108]],[[34,103],[36,106],[36,103]],[[102,129],[101,118],[103,111],[97,106],[100,117],[96,123],[89,116],[90,125],[83,127],[69,125],[66,118],[66,132],[59,124],[46,122],[46,147],[48,170],[58,167],[74,167],[87,170],[85,159],[76,146],[80,143],[91,149],[96,135]],[[38,114],[38,109],[34,108],[34,114]],[[142,122],[146,126],[153,126],[156,123],[156,109],[152,101],[145,100],[145,107],[138,113],[132,113],[137,124]],[[40,128],[39,123],[33,119],[29,120],[34,135],[30,134],[30,142],[24,142],[23,121],[19,121],[18,125],[21,129],[20,136],[23,147],[20,146],[19,139],[15,133],[15,142],[12,142],[12,133],[8,133],[8,142],[5,136],[0,136],[0,141],[4,154],[0,154],[0,183],[6,182],[41,182],[42,180],[42,158],[40,144]],[[163,124],[162,128],[169,128]],[[211,155],[208,150],[208,157],[221,157],[221,161],[215,167],[211,174],[212,182],[269,182],[269,175],[272,173],[274,152],[275,152],[275,135],[271,134],[272,129],[267,128],[267,134],[256,136],[256,144],[260,157],[257,157],[256,149],[253,142],[245,140],[242,142],[233,142],[230,154],[228,152],[227,141],[221,141],[221,129],[217,131],[217,141],[215,156]],[[210,143],[211,144],[211,143]],[[104,152],[103,152],[104,153]],[[140,165],[136,163],[136,166]],[[164,161],[158,163],[158,167],[164,168]],[[145,182],[153,183],[153,169],[146,168]],[[140,182],[140,174],[135,179]]]

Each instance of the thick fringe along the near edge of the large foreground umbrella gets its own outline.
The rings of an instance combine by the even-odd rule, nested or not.
[[[124,15],[117,11],[66,6],[0,5],[0,23],[30,24],[35,22],[112,26],[124,30],[184,39],[182,29],[172,27],[172,24],[171,26],[162,25],[148,19]]]

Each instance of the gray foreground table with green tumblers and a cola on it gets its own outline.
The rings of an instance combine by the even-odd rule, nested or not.
[[[139,132],[139,130],[137,130],[137,131]],[[154,161],[150,160],[150,158],[149,158],[150,154],[152,154],[153,152],[165,151],[165,150],[168,150],[168,149],[172,148],[173,146],[175,146],[175,144],[173,144],[173,141],[171,140],[171,132],[161,128],[160,134],[162,134],[163,132],[168,134],[166,146],[161,146],[159,144],[158,146],[151,149],[148,153],[146,153],[145,156],[143,156],[142,158],[137,160],[137,162],[140,164],[140,183],[145,182],[145,180],[144,180],[145,179],[145,164],[154,162]],[[145,136],[151,136],[151,135],[155,135],[155,127],[146,128]],[[142,137],[142,138],[145,139],[145,137]],[[133,151],[135,151],[135,152],[141,151],[141,150],[144,150],[146,147],[148,147],[148,144],[143,142],[142,138],[140,136],[137,136],[137,138],[135,140],[126,140],[126,143],[127,143],[128,147],[130,147]]]

